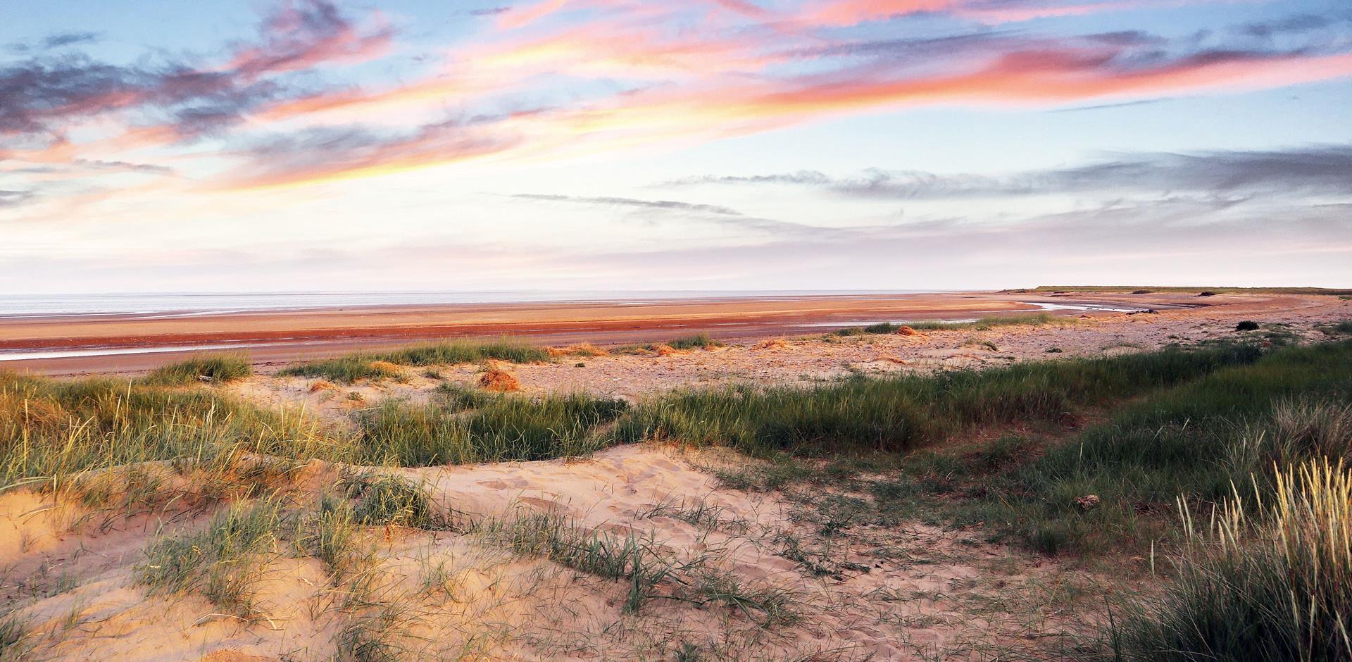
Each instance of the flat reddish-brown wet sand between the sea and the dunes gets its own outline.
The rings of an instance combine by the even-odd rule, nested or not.
[[[137,372],[193,350],[246,350],[270,365],[438,338],[518,336],[541,345],[664,340],[695,332],[757,339],[873,322],[1206,305],[1192,295],[952,292],[707,297],[664,301],[389,305],[210,315],[0,319],[0,369],[46,374]],[[1064,308],[1061,308],[1064,307]],[[34,358],[18,359],[27,353]]]

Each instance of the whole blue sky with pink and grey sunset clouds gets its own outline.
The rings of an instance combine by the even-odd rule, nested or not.
[[[1041,284],[1352,286],[1352,4],[0,4],[0,293]]]

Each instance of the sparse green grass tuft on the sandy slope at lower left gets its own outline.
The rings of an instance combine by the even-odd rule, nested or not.
[[[242,617],[253,615],[253,584],[264,562],[279,551],[281,504],[235,503],[195,534],[161,538],[137,565],[135,580],[151,594],[191,590]]]

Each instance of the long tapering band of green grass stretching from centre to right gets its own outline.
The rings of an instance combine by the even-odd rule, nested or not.
[[[615,440],[676,439],[765,455],[904,451],[980,424],[1056,420],[1076,405],[1252,362],[1251,346],[1017,363],[988,370],[849,378],[813,389],[677,392],[637,407]]]

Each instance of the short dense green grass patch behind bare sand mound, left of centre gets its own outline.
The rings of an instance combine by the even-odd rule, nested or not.
[[[387,401],[358,417],[358,451],[372,463],[446,463],[548,459],[600,447],[598,427],[619,417],[623,400],[585,394],[530,399],[448,388],[445,401]]]

